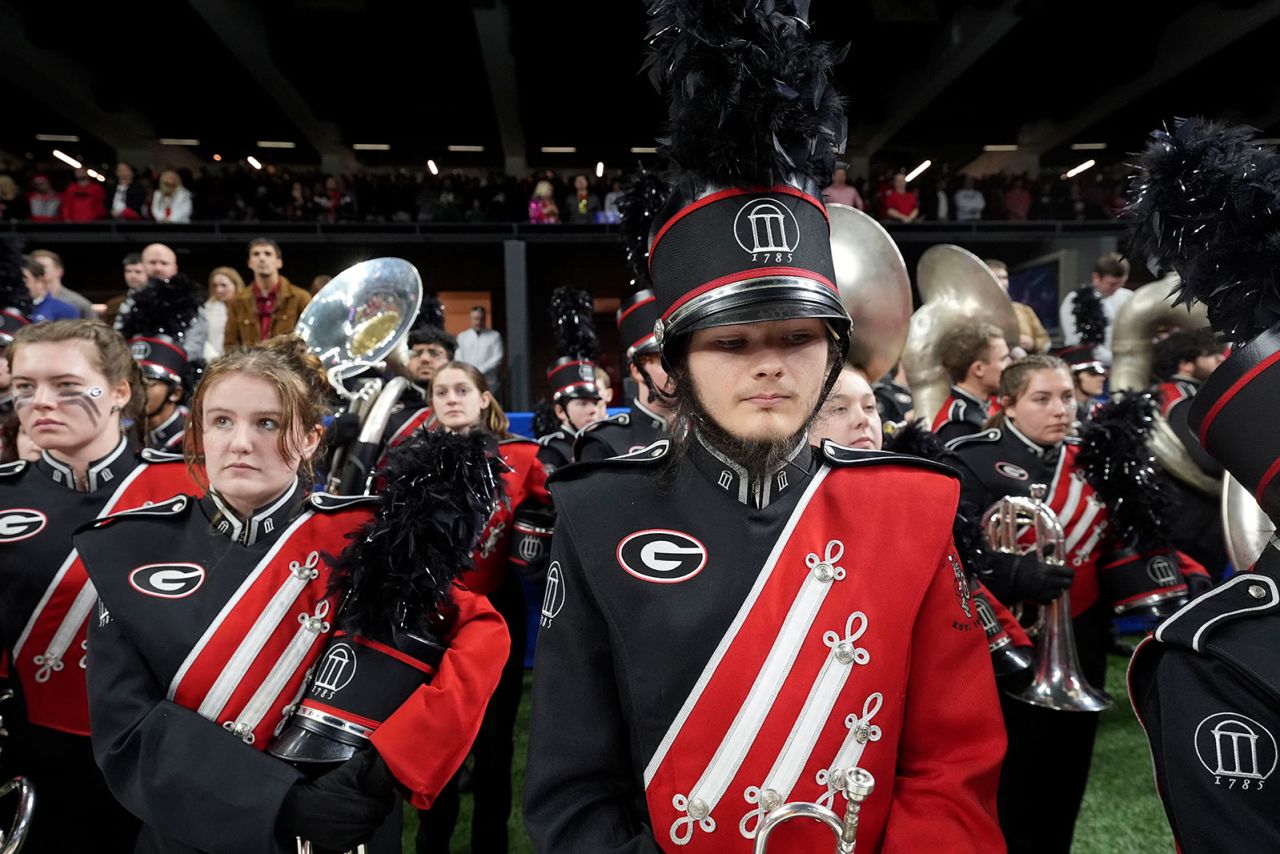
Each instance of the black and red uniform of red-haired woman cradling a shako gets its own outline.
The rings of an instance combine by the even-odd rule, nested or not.
[[[178,495],[76,535],[101,597],[90,629],[93,753],[142,819],[140,850],[294,850],[275,827],[303,775],[265,749],[337,622],[326,556],[342,552],[375,501],[306,497],[294,484],[239,517],[216,495]],[[419,807],[461,764],[506,654],[488,602],[466,590],[453,599],[434,679],[370,736]],[[385,850],[397,819],[372,850]]]

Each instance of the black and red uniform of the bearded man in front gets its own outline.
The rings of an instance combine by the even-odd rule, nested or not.
[[[859,850],[1004,850],[1004,731],[951,542],[954,475],[801,442],[751,478],[698,438],[673,460],[668,444],[552,478],[534,846],[750,851],[782,802],[842,813],[831,769],[856,764],[877,780]],[[851,515],[850,494],[876,501]],[[814,822],[769,840],[831,845]]]

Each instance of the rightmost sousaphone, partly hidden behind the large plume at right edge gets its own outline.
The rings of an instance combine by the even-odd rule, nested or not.
[[[1172,293],[1178,274],[1137,288],[1133,297],[1120,306],[1111,330],[1111,391],[1140,392],[1151,387],[1151,360],[1156,334],[1161,329],[1190,332],[1208,325],[1204,306],[1174,306]],[[1206,495],[1217,495],[1222,484],[1196,465],[1181,439],[1158,411],[1147,439],[1160,465],[1184,484]]]

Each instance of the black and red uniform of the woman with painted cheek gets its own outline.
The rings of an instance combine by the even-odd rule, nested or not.
[[[108,791],[90,749],[86,626],[96,593],[72,533],[192,489],[180,457],[140,453],[124,438],[88,466],[84,489],[49,452],[0,466],[0,639],[22,707],[5,709],[4,763],[37,790],[27,851],[132,849],[137,823]]]

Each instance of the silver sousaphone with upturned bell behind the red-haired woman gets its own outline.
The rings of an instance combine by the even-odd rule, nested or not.
[[[365,492],[381,452],[383,431],[408,380],[383,379],[387,359],[408,335],[422,306],[422,277],[403,259],[347,268],[317,293],[296,333],[324,365],[329,384],[360,419],[360,435],[333,451],[326,489]]]

